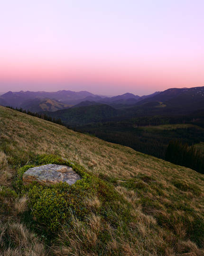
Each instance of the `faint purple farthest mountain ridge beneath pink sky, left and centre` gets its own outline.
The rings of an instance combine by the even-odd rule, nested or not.
[[[157,94],[158,92],[155,92],[154,94]],[[138,96],[134,95],[132,93],[125,93],[118,96],[113,97],[105,97],[105,96],[99,96],[95,95],[88,91],[71,91],[71,90],[59,90],[56,92],[46,92],[46,91],[19,91],[19,92],[12,92],[9,91],[7,93],[4,93],[0,96],[0,105],[3,106],[11,106],[14,108],[20,108],[24,107],[26,109],[33,108],[33,100],[35,99],[37,101],[40,99],[51,99],[59,101],[65,105],[77,105],[82,101],[90,101],[98,102],[100,104],[108,104],[114,108],[124,108],[130,105],[136,104],[139,100],[151,97],[151,95],[148,96]],[[31,102],[31,106],[29,106],[29,101]],[[40,111],[40,110],[39,110]]]

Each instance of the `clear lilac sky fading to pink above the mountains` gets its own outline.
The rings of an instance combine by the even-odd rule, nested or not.
[[[204,0],[0,0],[0,92],[204,86]]]

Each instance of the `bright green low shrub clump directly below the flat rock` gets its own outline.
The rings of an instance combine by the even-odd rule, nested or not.
[[[88,216],[90,209],[84,199],[93,195],[92,189],[83,180],[76,183],[72,186],[59,183],[52,187],[31,187],[28,197],[33,218],[47,230],[56,231],[69,223],[72,214],[80,220]]]

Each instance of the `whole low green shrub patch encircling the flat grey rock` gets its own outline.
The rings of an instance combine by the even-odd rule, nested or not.
[[[130,205],[115,191],[111,184],[89,174],[79,165],[72,164],[54,155],[38,156],[35,166],[44,164],[61,164],[72,167],[82,179],[72,186],[59,183],[50,187],[43,187],[37,183],[23,186],[23,173],[30,167],[24,166],[18,171],[16,187],[21,193],[27,191],[29,197],[30,214],[44,230],[56,232],[61,225],[71,225],[72,215],[85,221],[91,214],[91,207],[86,205],[86,199],[97,196],[101,206],[97,214],[118,227],[120,222],[130,221]],[[119,201],[122,204],[119,204]]]

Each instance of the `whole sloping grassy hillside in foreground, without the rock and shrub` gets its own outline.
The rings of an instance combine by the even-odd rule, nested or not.
[[[41,188],[22,187],[28,167],[17,175],[54,161],[42,154],[81,165],[87,183],[73,189],[91,195],[77,199],[83,218],[52,234],[31,218]],[[1,106],[0,206],[0,255],[204,255],[204,175]]]

